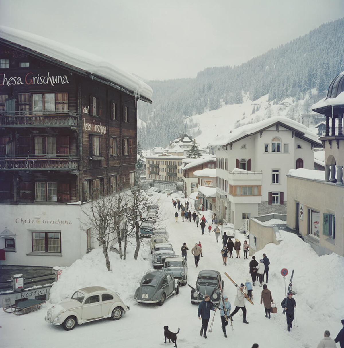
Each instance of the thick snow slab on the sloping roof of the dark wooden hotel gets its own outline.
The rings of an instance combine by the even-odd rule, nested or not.
[[[143,96],[149,100],[152,99],[153,91],[151,87],[131,73],[117,68],[117,66],[104,61],[102,57],[93,53],[7,26],[0,26],[0,38],[105,78],[116,85],[131,90],[137,96]]]

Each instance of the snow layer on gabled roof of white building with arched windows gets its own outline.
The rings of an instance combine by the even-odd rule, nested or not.
[[[229,134],[229,137],[228,137],[228,134],[221,134],[221,135],[217,136],[214,139],[214,141],[212,141],[211,143],[213,145],[230,144],[230,143],[233,143],[233,142],[239,140],[242,137],[255,134],[255,133],[259,132],[259,130],[267,128],[267,127],[275,124],[276,122],[281,122],[288,127],[291,127],[291,128],[298,130],[298,132],[303,133],[306,138],[308,138],[310,141],[312,141],[314,143],[317,143],[319,145],[322,144],[321,141],[318,140],[318,135],[311,132],[311,130],[309,128],[307,128],[306,126],[304,126],[303,124],[301,124],[297,121],[291,120],[290,118],[283,117],[283,116],[271,117],[271,118],[267,118],[263,121],[259,121],[259,122],[253,123],[253,124],[247,124],[247,125],[238,127],[236,129],[232,130],[232,132]]]

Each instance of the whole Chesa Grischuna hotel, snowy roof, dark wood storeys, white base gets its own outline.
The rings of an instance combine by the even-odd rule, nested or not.
[[[38,255],[62,256],[63,249],[74,247],[77,252],[59,262],[70,264],[90,247],[89,238],[84,233],[84,245],[63,248],[68,231],[61,221],[75,231],[81,214],[75,212],[77,204],[134,185],[137,100],[151,103],[152,90],[110,63],[99,67],[99,57],[76,55],[73,49],[69,55],[70,47],[4,28],[0,27],[0,216],[2,230],[6,227],[17,240],[11,248],[13,243],[3,243],[8,238],[1,238],[0,230],[0,248],[18,254],[19,224],[30,236],[21,238],[24,251],[19,259],[6,253],[12,264],[42,264]],[[50,223],[42,228],[44,219]],[[80,235],[75,242],[80,244]],[[25,254],[36,258],[27,261]]]

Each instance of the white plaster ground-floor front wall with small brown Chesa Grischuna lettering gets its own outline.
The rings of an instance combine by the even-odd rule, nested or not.
[[[79,205],[2,204],[0,220],[16,234],[16,252],[6,252],[5,264],[28,266],[70,266],[86,254],[86,232],[80,226]],[[67,223],[62,223],[67,221]],[[32,252],[31,231],[61,232],[61,255]],[[2,232],[2,231],[0,231]]]

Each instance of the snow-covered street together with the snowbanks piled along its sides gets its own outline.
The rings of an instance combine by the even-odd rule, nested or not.
[[[201,235],[201,228],[192,222],[182,222],[179,214],[175,222],[175,208],[171,199],[185,199],[174,194],[167,198],[166,194],[154,192],[159,204],[159,213],[165,217],[169,232],[169,242],[177,254],[181,253],[183,242],[189,247],[188,284],[194,286],[198,272],[203,269],[215,269],[221,272],[225,282],[224,293],[229,296],[232,311],[235,308],[236,289],[224,275],[227,272],[238,284],[251,281],[249,261],[244,260],[241,247],[240,259],[227,260],[223,265],[221,243],[216,243],[215,234],[208,232]],[[191,209],[193,212],[193,209]],[[208,222],[211,212],[204,212]],[[208,226],[208,225],[207,225]],[[214,227],[213,227],[214,228]],[[207,230],[207,227],[206,227]],[[163,306],[137,304],[134,292],[145,270],[152,268],[149,239],[145,248],[140,249],[139,259],[133,259],[134,246],[128,248],[127,260],[122,261],[115,253],[110,253],[112,272],[105,267],[102,250],[94,250],[82,260],[73,263],[63,270],[61,278],[51,289],[50,302],[44,304],[39,311],[23,316],[0,313],[1,347],[121,347],[150,348],[173,347],[173,343],[164,343],[163,326],[168,325],[173,332],[180,328],[177,335],[179,348],[209,347],[229,345],[238,348],[250,348],[258,343],[259,348],[310,348],[316,347],[323,338],[323,332],[329,330],[331,338],[335,338],[341,330],[341,319],[344,314],[344,258],[336,254],[318,256],[313,249],[294,234],[280,231],[283,241],[280,245],[268,244],[257,252],[256,259],[265,253],[270,259],[268,288],[277,304],[277,314],[271,319],[265,318],[264,306],[260,304],[262,288],[258,282],[253,290],[254,305],[246,301],[247,321],[242,323],[242,313],[234,316],[233,329],[227,326],[228,338],[224,338],[221,330],[221,319],[218,311],[212,332],[208,339],[200,337],[201,321],[197,316],[198,306],[190,302],[191,289],[183,286],[178,295],[171,296]],[[236,238],[243,244],[245,237],[236,231]],[[202,244],[202,255],[196,269],[191,249],[197,242]],[[287,268],[286,279],[280,274]],[[288,285],[291,271],[294,272],[293,290],[296,300],[296,316],[293,328],[287,332],[286,317],[282,315],[281,301],[285,297],[285,283]],[[49,325],[44,317],[52,304],[70,297],[75,290],[85,286],[98,285],[118,292],[130,310],[119,321],[105,319],[83,325],[77,325],[72,331],[64,331],[62,327]],[[214,312],[211,312],[211,319]],[[339,347],[339,343],[337,344]]]

